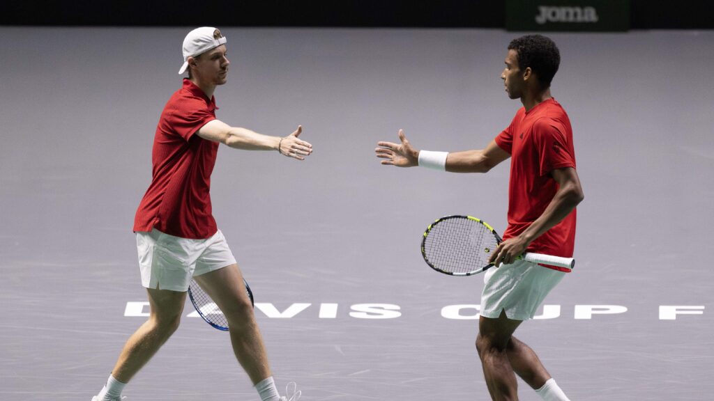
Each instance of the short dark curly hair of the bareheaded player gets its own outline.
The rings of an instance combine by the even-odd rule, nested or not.
[[[560,51],[555,42],[543,35],[526,35],[513,39],[508,50],[518,53],[518,68],[531,67],[543,86],[550,86],[560,66]]]

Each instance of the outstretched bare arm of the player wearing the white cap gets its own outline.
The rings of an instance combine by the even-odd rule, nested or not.
[[[277,150],[285,156],[304,160],[304,156],[312,153],[312,145],[298,139],[302,131],[302,126],[298,126],[298,129],[288,136],[269,136],[247,128],[231,127],[223,121],[213,120],[198,129],[196,135],[208,141],[223,143],[231,148],[247,151]]]

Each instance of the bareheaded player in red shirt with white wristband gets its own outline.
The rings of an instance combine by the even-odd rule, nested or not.
[[[385,159],[382,164],[454,173],[486,173],[511,158],[508,228],[491,256],[491,263],[498,268],[487,270],[483,278],[476,337],[493,400],[518,400],[515,374],[543,400],[568,400],[531,347],[513,337],[518,325],[533,318],[545,295],[566,274],[553,266],[516,258],[526,251],[571,257],[575,206],[583,200],[570,121],[550,94],[559,64],[558,47],[545,36],[527,35],[511,41],[501,79],[508,97],[521,99],[523,107],[484,149],[418,151],[401,130],[401,143],[379,142],[376,148],[376,156]]]

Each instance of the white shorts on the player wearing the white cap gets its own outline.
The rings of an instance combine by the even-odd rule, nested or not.
[[[188,291],[194,275],[236,263],[226,238],[218,230],[206,240],[191,240],[162,233],[136,233],[141,285],[161,290]]]

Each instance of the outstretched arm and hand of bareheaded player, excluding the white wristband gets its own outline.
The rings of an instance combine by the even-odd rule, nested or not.
[[[408,141],[404,132],[399,130],[399,140],[401,143],[378,142],[375,153],[378,158],[386,160],[382,164],[413,167],[419,165],[419,152]],[[511,157],[511,155],[499,148],[495,141],[488,143],[485,149],[474,151],[461,151],[449,153],[446,158],[446,171],[452,173],[486,173],[494,166]]]

